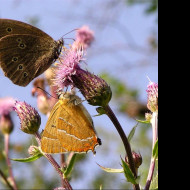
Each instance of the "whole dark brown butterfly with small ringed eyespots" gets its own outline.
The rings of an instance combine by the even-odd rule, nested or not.
[[[29,24],[0,19],[0,66],[14,84],[28,85],[59,57],[63,38],[55,41]]]

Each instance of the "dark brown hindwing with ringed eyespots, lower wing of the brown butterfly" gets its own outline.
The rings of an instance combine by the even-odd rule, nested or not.
[[[54,61],[58,44],[53,39],[29,34],[8,35],[0,39],[0,64],[14,84],[28,85]]]

